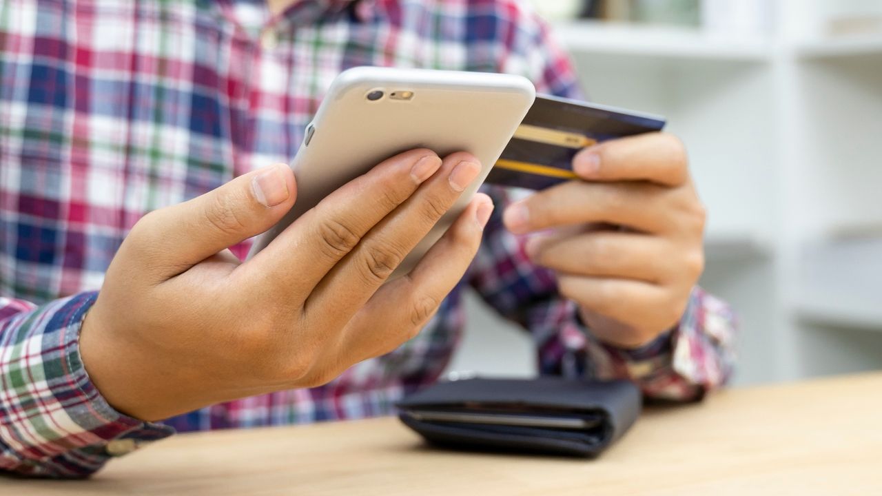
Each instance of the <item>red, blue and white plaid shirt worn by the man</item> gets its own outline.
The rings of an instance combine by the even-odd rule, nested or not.
[[[422,334],[324,387],[161,424],[108,405],[78,330],[128,230],[155,208],[286,162],[331,80],[355,65],[511,72],[541,92],[579,93],[547,26],[515,0],[302,0],[275,17],[254,1],[0,4],[0,470],[81,477],[175,429],[387,414],[445,370],[467,284],[534,336],[542,373],[632,378],[675,399],[727,380],[724,304],[696,289],[669,334],[644,349],[604,345],[495,214]],[[488,192],[505,203],[506,192]]]

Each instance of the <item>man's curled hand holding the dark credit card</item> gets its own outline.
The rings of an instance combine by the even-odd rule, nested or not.
[[[704,268],[705,209],[683,144],[665,133],[607,141],[579,152],[584,181],[512,204],[512,232],[552,229],[527,242],[557,272],[561,294],[605,342],[637,348],[675,326]]]

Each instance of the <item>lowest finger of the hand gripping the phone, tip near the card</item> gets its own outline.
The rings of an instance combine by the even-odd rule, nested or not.
[[[492,211],[490,198],[477,193],[414,270],[386,283],[356,314],[344,336],[346,349],[363,360],[387,353],[414,337],[475,258]]]

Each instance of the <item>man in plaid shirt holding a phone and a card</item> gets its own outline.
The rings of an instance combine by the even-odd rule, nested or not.
[[[295,202],[272,164],[368,64],[579,91],[515,0],[4,4],[0,468],[82,477],[174,429],[388,413],[444,370],[467,283],[534,335],[543,373],[681,400],[729,377],[729,312],[693,287],[704,212],[666,134],[588,148],[585,181],[519,202],[486,188],[388,284],[475,157],[392,157],[241,263]]]

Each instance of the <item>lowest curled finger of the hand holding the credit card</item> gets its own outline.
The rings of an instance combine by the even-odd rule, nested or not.
[[[687,298],[677,298],[678,293],[661,286],[627,279],[560,275],[557,287],[582,308],[647,335],[673,327],[687,303]]]

